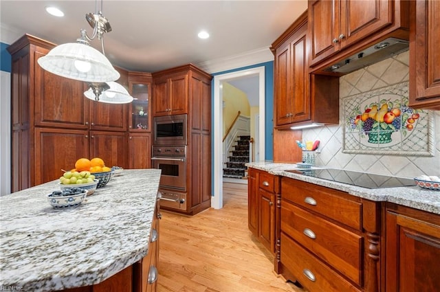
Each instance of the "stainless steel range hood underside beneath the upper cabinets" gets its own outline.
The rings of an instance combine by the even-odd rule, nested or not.
[[[384,41],[358,52],[358,54],[349,56],[348,58],[341,60],[339,63],[327,67],[324,71],[343,74],[350,73],[373,63],[377,63],[380,60],[405,52],[408,49],[408,41],[399,38],[386,38]]]

